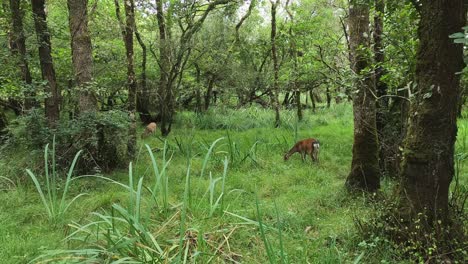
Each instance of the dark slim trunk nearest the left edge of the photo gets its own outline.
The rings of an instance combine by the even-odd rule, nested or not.
[[[26,84],[26,91],[24,93],[25,110],[29,110],[37,106],[35,99],[36,93],[32,87],[32,77],[29,70],[28,60],[26,59],[26,38],[24,36],[23,30],[23,17],[24,12],[21,9],[20,1],[10,0],[10,10],[11,10],[11,21],[13,25],[12,30],[12,39],[11,39],[11,50],[14,55],[18,56],[18,64],[21,71],[21,79]]]

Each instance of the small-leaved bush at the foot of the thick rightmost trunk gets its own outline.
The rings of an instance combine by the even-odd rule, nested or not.
[[[453,201],[452,201],[453,202]],[[398,201],[382,197],[374,205],[369,219],[356,219],[363,237],[359,244],[379,248],[392,247],[402,259],[415,263],[464,263],[468,240],[463,230],[466,213],[451,204],[449,223],[432,221],[421,212],[410,219],[400,211]]]

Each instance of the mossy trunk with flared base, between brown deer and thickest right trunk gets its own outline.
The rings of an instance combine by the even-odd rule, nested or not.
[[[365,69],[371,59],[363,48],[370,48],[369,5],[351,1],[349,35],[352,51],[352,70],[355,72],[357,93],[353,98],[354,143],[351,172],[346,179],[348,189],[373,192],[380,187],[378,141],[375,120],[375,87],[372,76]]]

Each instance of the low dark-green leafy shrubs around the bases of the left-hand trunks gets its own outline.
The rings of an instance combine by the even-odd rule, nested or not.
[[[127,163],[129,119],[123,111],[86,113],[72,120],[61,120],[56,129],[47,127],[42,111],[33,110],[10,126],[9,147],[26,146],[33,152],[57,142],[57,163],[69,167],[76,152],[83,150],[77,168],[80,173],[110,171]]]

